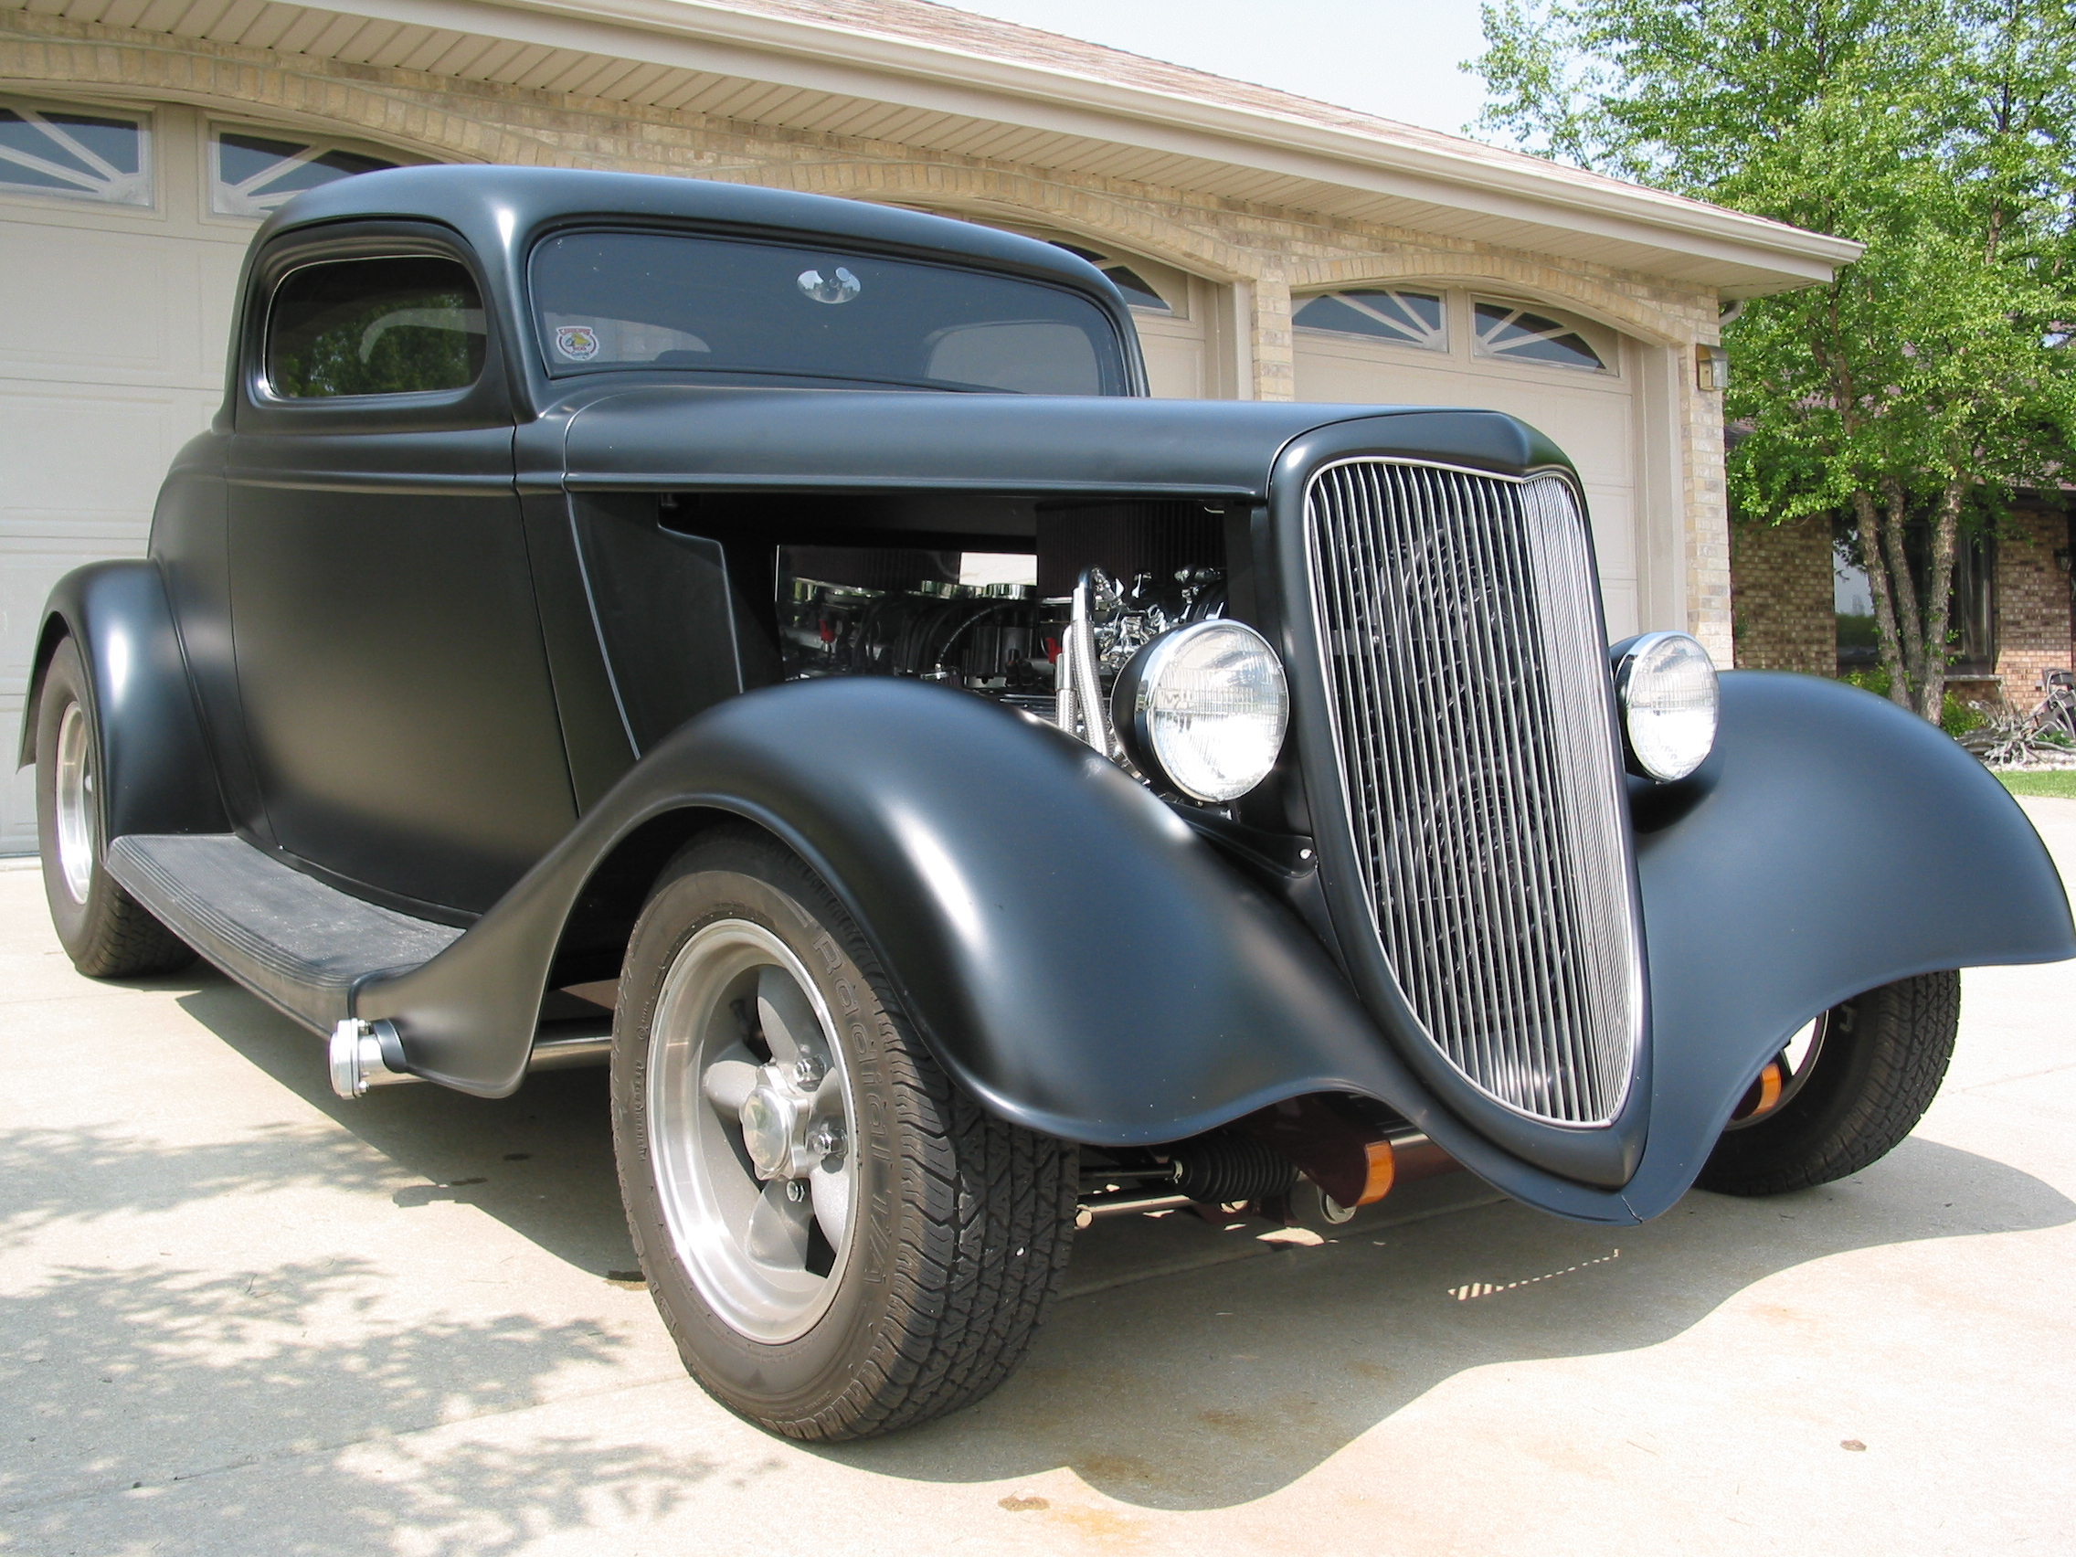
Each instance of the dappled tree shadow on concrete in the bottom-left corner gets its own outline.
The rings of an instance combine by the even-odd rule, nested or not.
[[[372,1262],[220,1275],[73,1266],[8,1298],[8,1551],[494,1557],[602,1513],[664,1518],[716,1474],[654,1439],[477,1422],[625,1341],[523,1314],[384,1316]]]

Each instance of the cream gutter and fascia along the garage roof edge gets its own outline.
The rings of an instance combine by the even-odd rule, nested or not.
[[[1441,233],[1590,257],[1731,297],[1829,280],[1860,245],[1408,127],[1403,139],[712,0],[343,0],[324,6],[803,91],[1138,145],[1391,201]],[[1349,201],[1347,195],[1356,195]],[[1393,218],[1397,220],[1397,218]],[[1401,222],[1414,224],[1414,222]]]

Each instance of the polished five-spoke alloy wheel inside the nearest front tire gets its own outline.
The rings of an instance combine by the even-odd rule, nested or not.
[[[679,1260],[741,1335],[793,1341],[835,1300],[855,1225],[828,1007],[776,934],[718,920],[673,959],[652,1032],[646,1131]]]

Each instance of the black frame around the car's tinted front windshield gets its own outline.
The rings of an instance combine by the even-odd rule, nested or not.
[[[889,260],[905,266],[928,266],[936,270],[953,270],[961,274],[980,274],[1001,280],[1013,280],[1023,286],[1040,286],[1050,293],[1065,293],[1082,303],[1086,303],[1094,313],[1109,326],[1109,353],[1104,353],[1102,343],[1090,340],[1096,347],[1096,367],[1102,380],[1102,388],[1086,399],[1131,399],[1144,397],[1144,367],[1138,351],[1138,330],[1131,328],[1129,313],[1123,309],[1119,297],[1111,297],[1115,291],[1111,282],[1104,280],[1102,289],[1096,286],[1075,286],[1071,280],[1063,280],[1057,274],[1042,274],[1021,270],[1017,266],[992,266],[978,264],[969,255],[947,253],[943,249],[911,249],[901,245],[880,245],[870,241],[859,241],[853,237],[835,237],[826,233],[799,233],[791,228],[756,228],[756,226],[708,226],[708,224],[685,224],[685,222],[644,222],[639,218],[575,218],[565,222],[554,222],[552,226],[542,226],[531,235],[525,245],[525,260],[521,266],[523,282],[523,309],[521,322],[527,336],[531,338],[531,355],[536,367],[546,376],[550,384],[567,384],[569,380],[581,378],[637,378],[648,382],[706,382],[714,386],[735,384],[735,386],[776,386],[776,388],[859,388],[859,390],[895,390],[895,392],[936,392],[936,394],[1026,394],[1026,390],[1007,390],[986,384],[959,384],[943,378],[893,378],[893,376],[857,376],[857,374],[816,374],[799,367],[706,367],[702,363],[558,363],[554,353],[548,349],[548,324],[546,309],[536,295],[536,264],[540,262],[542,249],[556,241],[577,235],[637,235],[637,237],[677,237],[677,239],[698,239],[708,243],[745,243],[760,247],[783,247],[801,249],[803,253],[818,257],[837,257],[845,253],[855,253],[864,260]],[[1077,397],[1082,399],[1082,397]]]

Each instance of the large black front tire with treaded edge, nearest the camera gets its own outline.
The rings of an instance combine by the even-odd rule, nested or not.
[[[822,1273],[828,1308],[776,1343],[702,1291],[664,1214],[646,1119],[666,974],[722,922],[776,934],[826,1011],[843,1011],[832,1026],[868,1146],[855,1152],[849,1254]],[[739,1003],[729,1009],[741,1015]],[[635,924],[612,1030],[612,1140],[627,1225],[685,1368],[722,1405],[791,1439],[876,1437],[980,1399],[1023,1360],[1065,1277],[1075,1146],[1003,1123],[961,1092],[835,895],[747,826],[689,843]]]

